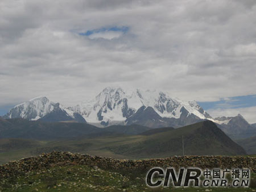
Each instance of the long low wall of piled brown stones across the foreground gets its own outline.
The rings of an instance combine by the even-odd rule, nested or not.
[[[150,168],[159,167],[199,167],[208,168],[249,168],[256,172],[256,157],[227,156],[184,156],[149,160],[118,160],[98,156],[73,154],[70,152],[51,152],[38,157],[23,158],[0,165],[0,179],[28,173],[32,170],[64,165],[89,165],[103,169],[147,172]]]

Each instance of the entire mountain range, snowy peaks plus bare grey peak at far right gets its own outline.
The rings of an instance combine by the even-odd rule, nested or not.
[[[228,135],[238,134],[234,137],[247,137],[250,132],[256,132],[256,126],[250,125],[240,114],[212,118],[196,101],[174,99],[163,91],[124,90],[118,86],[106,87],[93,100],[73,107],[63,107],[45,96],[37,97],[16,105],[3,118],[80,122],[97,127],[139,124],[151,128],[178,128],[211,120]],[[247,135],[239,136],[245,133]]]

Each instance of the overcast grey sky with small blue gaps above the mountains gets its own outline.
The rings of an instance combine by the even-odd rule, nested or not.
[[[119,85],[255,123],[255,102],[215,105],[256,95],[255,26],[255,0],[1,0],[0,115],[38,95],[72,106]]]

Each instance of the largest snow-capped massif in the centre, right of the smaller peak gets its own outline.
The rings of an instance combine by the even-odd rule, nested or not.
[[[137,120],[129,122],[129,119],[141,107],[151,107],[160,118],[165,119],[180,119],[182,113],[183,115],[186,113],[186,118],[191,115],[195,116],[197,121],[212,119],[196,101],[185,102],[174,99],[163,91],[123,90],[121,87],[106,87],[92,101],[69,107],[69,110],[81,114],[90,124],[106,126],[109,124],[138,123]],[[163,119],[159,120],[163,121]]]

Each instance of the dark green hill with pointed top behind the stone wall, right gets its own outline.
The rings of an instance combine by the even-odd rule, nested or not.
[[[109,148],[117,154],[146,157],[182,155],[182,136],[185,155],[245,155],[245,150],[210,121],[175,130],[155,133],[136,143]]]

